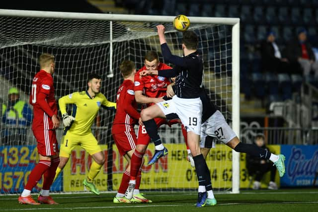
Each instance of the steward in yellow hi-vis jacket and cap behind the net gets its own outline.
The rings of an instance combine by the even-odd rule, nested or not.
[[[15,87],[9,89],[8,103],[2,104],[2,131],[4,144],[21,144],[25,140],[26,129],[32,122],[32,110],[29,105],[20,100],[19,90]]]

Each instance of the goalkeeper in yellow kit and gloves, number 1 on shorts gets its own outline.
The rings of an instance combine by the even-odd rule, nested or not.
[[[116,103],[110,102],[100,93],[101,78],[97,74],[90,74],[88,77],[88,90],[74,92],[59,99],[60,111],[63,115],[65,126],[64,136],[60,147],[60,164],[56,170],[55,179],[60,174],[65,164],[68,162],[72,150],[75,146],[81,146],[94,159],[88,175],[83,181],[83,185],[99,195],[98,189],[93,184],[93,180],[105,162],[105,156],[91,133],[91,125],[102,106],[106,109],[116,109]],[[73,104],[72,115],[66,112],[66,105]]]

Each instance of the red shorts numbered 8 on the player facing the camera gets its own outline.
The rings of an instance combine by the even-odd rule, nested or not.
[[[173,125],[173,124],[180,123],[179,119],[173,119],[173,120],[167,121],[166,119],[162,119],[162,118],[155,118],[155,122],[157,124],[157,128],[159,128],[161,125],[169,125],[171,127],[171,125]],[[151,139],[146,131],[145,126],[139,125],[137,144],[148,145],[150,143],[150,141],[151,141]]]

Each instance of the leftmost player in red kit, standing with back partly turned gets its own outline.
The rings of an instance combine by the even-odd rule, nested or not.
[[[39,205],[40,203],[53,205],[57,203],[52,199],[49,192],[56,168],[60,162],[55,133],[55,129],[60,126],[60,119],[57,115],[58,109],[54,97],[52,77],[55,69],[54,56],[46,53],[42,54],[39,58],[39,64],[40,71],[33,78],[30,95],[30,104],[33,106],[32,131],[37,141],[39,163],[31,171],[18,202],[30,205]],[[43,187],[38,196],[39,203],[36,203],[31,197],[31,190],[42,175],[44,177]]]

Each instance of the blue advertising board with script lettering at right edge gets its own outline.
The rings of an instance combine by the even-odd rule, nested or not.
[[[318,171],[318,145],[281,145],[286,156],[286,173],[281,186],[313,186]]]

